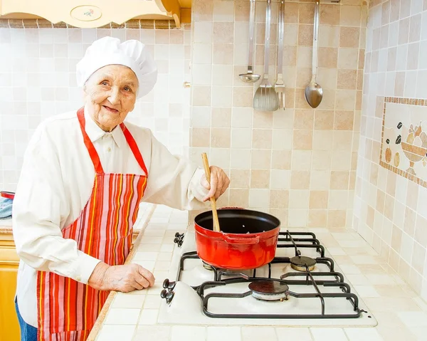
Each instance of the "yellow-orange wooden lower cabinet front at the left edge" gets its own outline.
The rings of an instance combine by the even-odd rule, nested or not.
[[[0,235],[0,340],[20,340],[14,303],[18,266],[12,236]]]

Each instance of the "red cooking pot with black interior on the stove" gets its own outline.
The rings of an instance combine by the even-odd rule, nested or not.
[[[273,260],[280,220],[247,209],[218,209],[221,232],[213,231],[212,211],[194,219],[198,256],[217,268],[247,270]]]

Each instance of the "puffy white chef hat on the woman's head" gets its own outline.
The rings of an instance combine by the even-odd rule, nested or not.
[[[137,75],[137,98],[147,95],[157,81],[157,66],[147,47],[136,40],[123,43],[118,38],[104,37],[94,41],[76,66],[77,84],[83,86],[96,70],[105,65],[119,64]]]

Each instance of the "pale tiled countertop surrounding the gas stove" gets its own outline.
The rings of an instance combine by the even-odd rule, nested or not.
[[[310,229],[354,286],[376,327],[246,327],[157,325],[160,291],[174,248],[176,231],[186,230],[186,212],[157,206],[142,221],[142,233],[127,259],[153,271],[149,290],[111,293],[88,340],[93,341],[416,341],[427,340],[427,303],[350,229]]]

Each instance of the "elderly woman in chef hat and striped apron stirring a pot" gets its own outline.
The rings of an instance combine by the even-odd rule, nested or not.
[[[77,78],[84,107],[38,127],[14,199],[22,340],[85,340],[109,290],[154,284],[142,266],[123,265],[141,201],[201,208],[229,184],[211,167],[209,185],[150,130],[123,123],[157,79],[144,44],[95,41]]]

